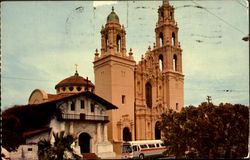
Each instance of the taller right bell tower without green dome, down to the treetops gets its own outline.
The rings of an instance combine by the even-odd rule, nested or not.
[[[164,102],[167,108],[179,111],[184,106],[184,75],[182,73],[182,49],[178,41],[178,26],[174,7],[163,0],[158,9],[155,28],[155,55],[162,61]]]

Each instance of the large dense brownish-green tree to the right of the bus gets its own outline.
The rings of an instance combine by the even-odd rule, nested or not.
[[[166,154],[182,158],[242,158],[248,153],[249,107],[201,103],[162,115]],[[194,154],[195,153],[195,154]]]

